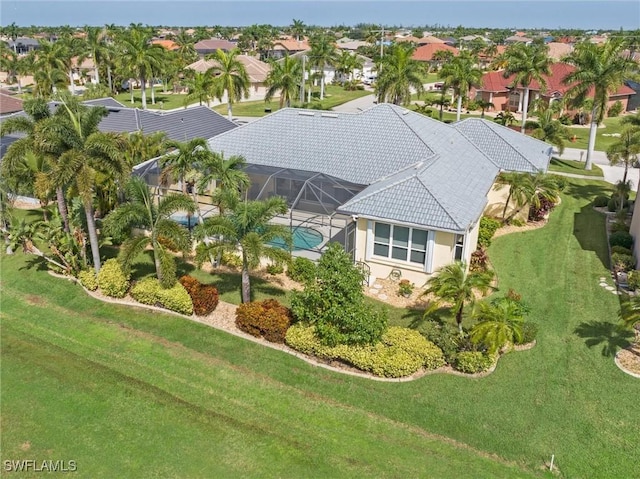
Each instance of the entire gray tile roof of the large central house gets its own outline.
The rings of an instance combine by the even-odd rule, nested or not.
[[[367,186],[339,212],[463,232],[482,214],[501,169],[547,168],[549,145],[495,126],[448,125],[388,104],[356,114],[283,109],[209,146],[250,165]]]

